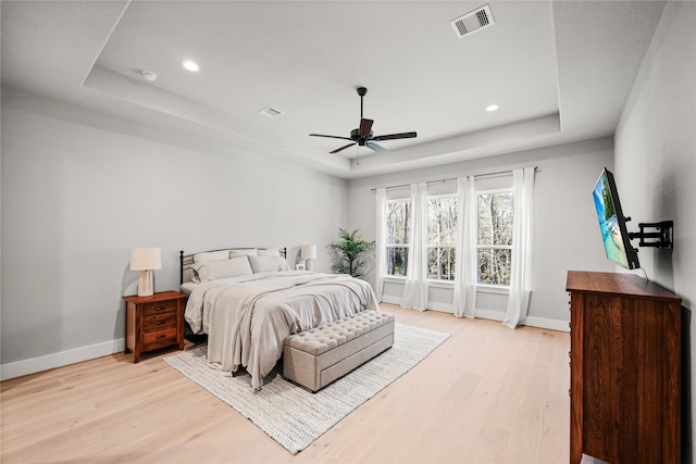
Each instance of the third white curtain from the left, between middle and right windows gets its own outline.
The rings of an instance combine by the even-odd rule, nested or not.
[[[455,298],[457,317],[474,317],[476,309],[476,191],[474,177],[457,179]]]

